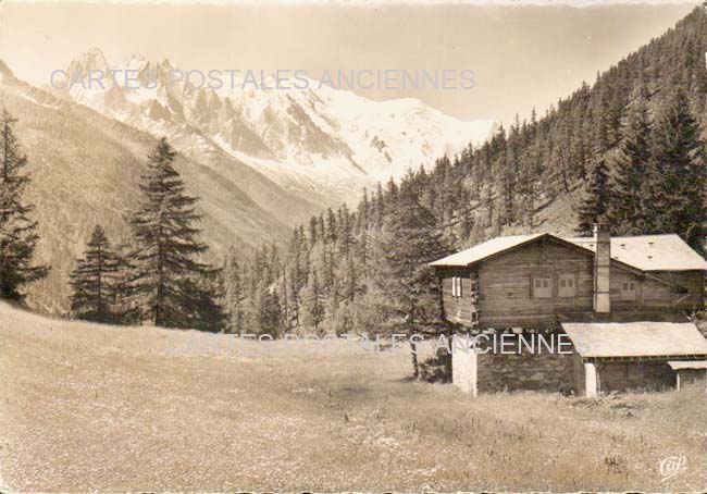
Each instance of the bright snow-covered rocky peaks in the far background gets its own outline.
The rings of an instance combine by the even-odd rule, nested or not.
[[[112,69],[133,71],[141,84],[124,77],[114,84],[109,69],[100,49],[82,54],[70,64],[70,78],[86,82],[89,71],[106,76],[100,84],[71,84],[64,96],[166,135],[200,161],[225,153],[322,206],[356,200],[363,186],[431,165],[470,141],[484,141],[494,128],[489,121],[452,119],[418,99],[373,101],[319,83],[276,90],[194,87],[174,81],[177,67],[169,60],[133,57]]]

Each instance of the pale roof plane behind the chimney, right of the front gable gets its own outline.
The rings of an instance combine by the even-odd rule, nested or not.
[[[596,250],[594,238],[566,238]],[[611,237],[611,258],[641,271],[707,270],[707,261],[675,234]]]

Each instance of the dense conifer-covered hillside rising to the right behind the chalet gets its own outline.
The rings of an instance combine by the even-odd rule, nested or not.
[[[415,197],[436,219],[435,231],[420,236],[442,234],[449,250],[507,233],[573,233],[596,164],[606,162],[617,173],[627,116],[638,99],[657,121],[667,102],[682,95],[704,136],[705,51],[707,13],[695,9],[542,118],[533,114],[481,148],[470,145],[458,157],[443,157],[431,172],[421,169],[379,186],[356,211],[342,207],[312,218],[296,230],[284,256],[269,249],[255,260],[235,256],[227,279],[233,330],[380,326],[385,316],[376,308],[387,300],[382,273],[390,258],[382,249],[406,248],[386,239],[392,220],[409,209],[399,203],[402,196]]]

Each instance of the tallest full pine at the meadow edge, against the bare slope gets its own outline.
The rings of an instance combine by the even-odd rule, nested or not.
[[[214,271],[196,258],[207,250],[194,226],[195,197],[172,166],[176,153],[165,138],[148,157],[142,176],[142,201],[131,225],[137,250],[135,292],[150,321],[160,326],[204,329],[197,318],[219,320],[213,289]],[[196,305],[196,306],[193,306]],[[213,320],[211,320],[213,319]],[[214,328],[215,329],[215,328]]]

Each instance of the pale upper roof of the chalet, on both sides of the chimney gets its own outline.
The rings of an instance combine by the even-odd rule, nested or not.
[[[545,235],[592,251],[596,250],[592,237],[560,238],[547,233],[511,235],[484,242],[470,249],[436,260],[431,265],[467,267]],[[674,234],[612,237],[611,258],[640,271],[707,271],[707,261]]]

